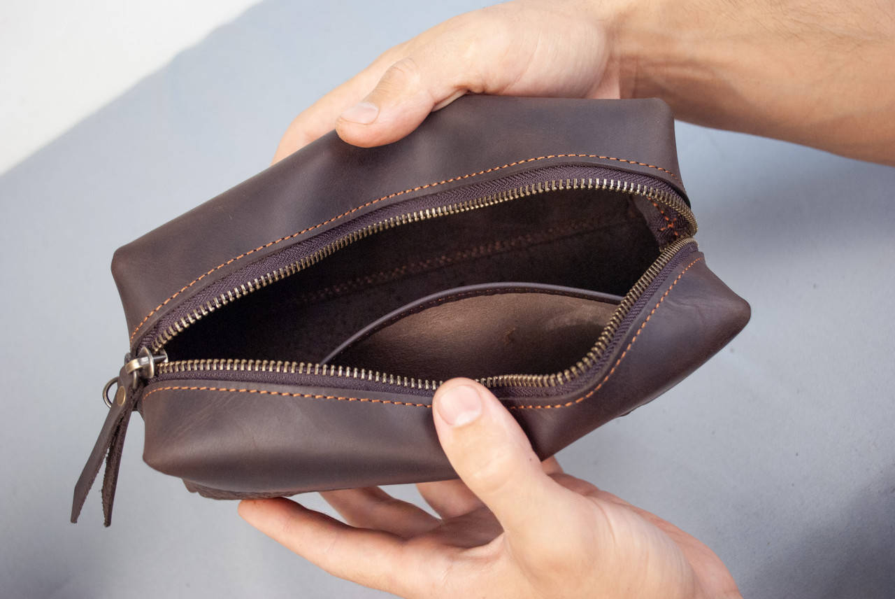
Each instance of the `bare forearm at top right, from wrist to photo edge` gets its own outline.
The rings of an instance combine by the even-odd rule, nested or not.
[[[895,4],[634,0],[612,35],[623,98],[895,164]]]

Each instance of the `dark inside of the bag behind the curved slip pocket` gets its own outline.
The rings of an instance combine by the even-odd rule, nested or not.
[[[514,282],[620,296],[658,255],[656,239],[629,194],[540,193],[364,237],[210,313],[171,339],[166,350],[173,360],[316,363],[371,322],[427,295]],[[598,336],[599,331],[568,364]],[[504,372],[489,372],[499,373]]]

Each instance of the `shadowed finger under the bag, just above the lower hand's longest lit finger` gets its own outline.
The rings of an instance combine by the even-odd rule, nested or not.
[[[396,500],[379,487],[327,491],[320,495],[352,526],[411,538],[439,525],[438,518],[413,503]]]

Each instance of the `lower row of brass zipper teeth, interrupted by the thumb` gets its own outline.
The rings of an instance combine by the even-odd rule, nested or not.
[[[652,263],[644,275],[637,280],[634,287],[625,295],[621,303],[618,304],[615,312],[612,313],[609,322],[603,328],[600,338],[573,366],[570,366],[563,372],[555,372],[553,374],[502,374],[499,376],[485,377],[477,379],[485,387],[556,387],[567,382],[574,381],[583,372],[586,372],[594,364],[599,361],[609,342],[618,330],[621,322],[625,320],[628,312],[636,301],[643,295],[647,287],[650,286],[653,279],[656,278],[662,269],[664,269],[669,261],[687,244],[695,243],[692,237],[678,239],[678,241],[669,244],[660,254],[659,258]],[[381,382],[409,389],[435,390],[443,381],[434,381],[431,379],[416,379],[413,377],[399,376],[387,372],[379,372],[367,370],[364,368],[353,368],[350,366],[340,366],[336,364],[316,364],[309,362],[288,362],[283,360],[248,360],[248,359],[207,359],[207,360],[179,360],[176,362],[166,362],[156,366],[156,372],[159,374],[172,374],[178,372],[199,372],[199,371],[230,371],[230,372],[271,372],[283,374],[318,374],[321,376],[331,376],[347,379],[356,379],[360,381]]]

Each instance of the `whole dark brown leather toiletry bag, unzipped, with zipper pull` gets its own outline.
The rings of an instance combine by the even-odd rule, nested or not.
[[[329,133],[115,252],[129,354],[72,521],[106,458],[108,523],[134,409],[149,466],[221,499],[453,477],[430,414],[453,376],[546,458],[746,325],[695,231],[659,100],[469,96],[388,146]]]

